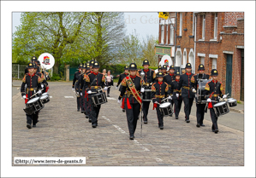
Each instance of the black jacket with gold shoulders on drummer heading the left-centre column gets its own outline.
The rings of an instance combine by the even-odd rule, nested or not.
[[[100,72],[89,72],[88,75],[84,76],[84,86],[85,89],[91,90],[92,92],[97,92],[98,89],[103,89],[105,87],[105,77]],[[88,89],[89,88],[89,89]],[[95,95],[96,93],[92,93],[88,95],[89,98],[92,98],[92,95]]]

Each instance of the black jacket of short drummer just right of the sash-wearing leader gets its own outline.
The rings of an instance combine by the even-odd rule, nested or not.
[[[158,103],[161,103],[161,100],[163,98],[166,98],[167,95],[170,95],[170,90],[167,83],[164,82],[157,82],[152,84],[152,101],[158,101]]]

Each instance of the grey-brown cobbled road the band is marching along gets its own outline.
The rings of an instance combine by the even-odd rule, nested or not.
[[[64,97],[74,96],[70,83],[51,83],[49,94],[51,101],[33,129],[26,127],[21,95],[13,97],[13,157],[86,157],[87,166],[244,165],[244,133],[238,129],[219,124],[214,134],[207,118],[205,128],[196,128],[196,118],[185,123],[182,112],[178,120],[164,118],[160,130],[151,104],[149,123],[143,124],[140,135],[139,122],[130,141],[126,115],[116,103],[117,89],[111,89],[108,103],[102,105],[96,129],[76,112],[75,97]]]

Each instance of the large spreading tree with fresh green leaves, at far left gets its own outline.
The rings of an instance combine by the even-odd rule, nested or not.
[[[22,13],[21,26],[14,34],[13,54],[30,60],[33,55],[51,53],[55,58],[53,71],[58,73],[63,55],[77,55],[87,49],[86,45],[76,49],[72,45],[79,43],[80,36],[88,36],[86,16],[86,12]]]

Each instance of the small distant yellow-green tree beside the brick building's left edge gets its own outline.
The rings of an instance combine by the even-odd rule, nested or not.
[[[157,38],[147,36],[143,39],[142,57],[149,61],[151,66],[158,66],[158,56],[155,55],[155,45],[158,44]]]

